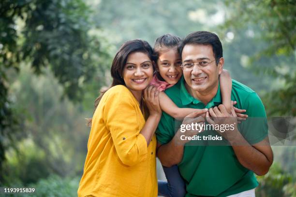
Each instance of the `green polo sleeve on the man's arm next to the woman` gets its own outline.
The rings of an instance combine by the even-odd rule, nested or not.
[[[172,140],[175,135],[174,125],[174,119],[167,113],[163,112],[161,120],[159,121],[158,127],[155,131],[156,139],[159,143],[166,144]]]

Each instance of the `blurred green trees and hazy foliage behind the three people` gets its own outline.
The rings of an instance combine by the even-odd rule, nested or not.
[[[76,196],[85,118],[120,44],[196,30],[219,35],[224,68],[259,94],[268,117],[295,120],[295,0],[1,0],[0,186]],[[296,197],[296,146],[285,145],[272,146],[258,197]],[[165,179],[159,163],[158,174]]]

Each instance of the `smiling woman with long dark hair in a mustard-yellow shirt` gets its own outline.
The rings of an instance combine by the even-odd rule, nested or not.
[[[148,86],[153,72],[148,42],[120,47],[111,88],[95,101],[79,197],[157,196],[154,132],[162,111],[158,91]]]

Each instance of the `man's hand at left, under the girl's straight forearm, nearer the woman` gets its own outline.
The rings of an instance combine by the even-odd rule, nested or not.
[[[190,125],[191,126],[193,123],[194,128],[193,129],[186,129],[186,127],[185,127],[184,128],[186,130],[185,132],[181,132],[181,129],[179,128],[175,137],[174,137],[174,139],[176,140],[175,141],[176,143],[184,145],[189,140],[181,140],[180,139],[181,135],[185,135],[186,137],[192,137],[192,136],[199,134],[200,132],[202,132],[204,130],[204,129],[200,130],[201,127],[199,127],[199,125],[203,125],[205,123],[205,118],[199,116],[203,113],[205,113],[205,112],[204,111],[192,112],[184,118],[182,125],[185,125],[185,126]],[[195,128],[197,128],[197,129],[195,129]]]

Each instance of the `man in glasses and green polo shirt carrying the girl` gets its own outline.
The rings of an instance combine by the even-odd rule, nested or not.
[[[266,113],[260,98],[252,89],[233,80],[231,99],[237,101],[237,108],[247,110],[248,119],[257,119],[256,124],[246,121],[237,125],[234,111],[227,113],[221,104],[219,74],[224,58],[218,36],[207,31],[191,33],[178,50],[182,56],[183,77],[165,93],[178,107],[209,109],[206,119],[212,125],[233,123],[235,127],[233,130],[227,128],[223,133],[180,129],[175,133],[175,120],[163,113],[156,131],[160,161],[165,167],[178,164],[186,183],[186,197],[254,196],[258,182],[253,172],[266,174],[273,161]],[[204,124],[204,118],[194,115],[188,117],[194,118],[195,123]],[[184,119],[182,124],[190,124],[190,121]],[[222,135],[230,145],[185,146],[190,140],[185,141],[184,135],[207,136],[213,132]],[[203,140],[203,143],[207,144],[207,141]]]

